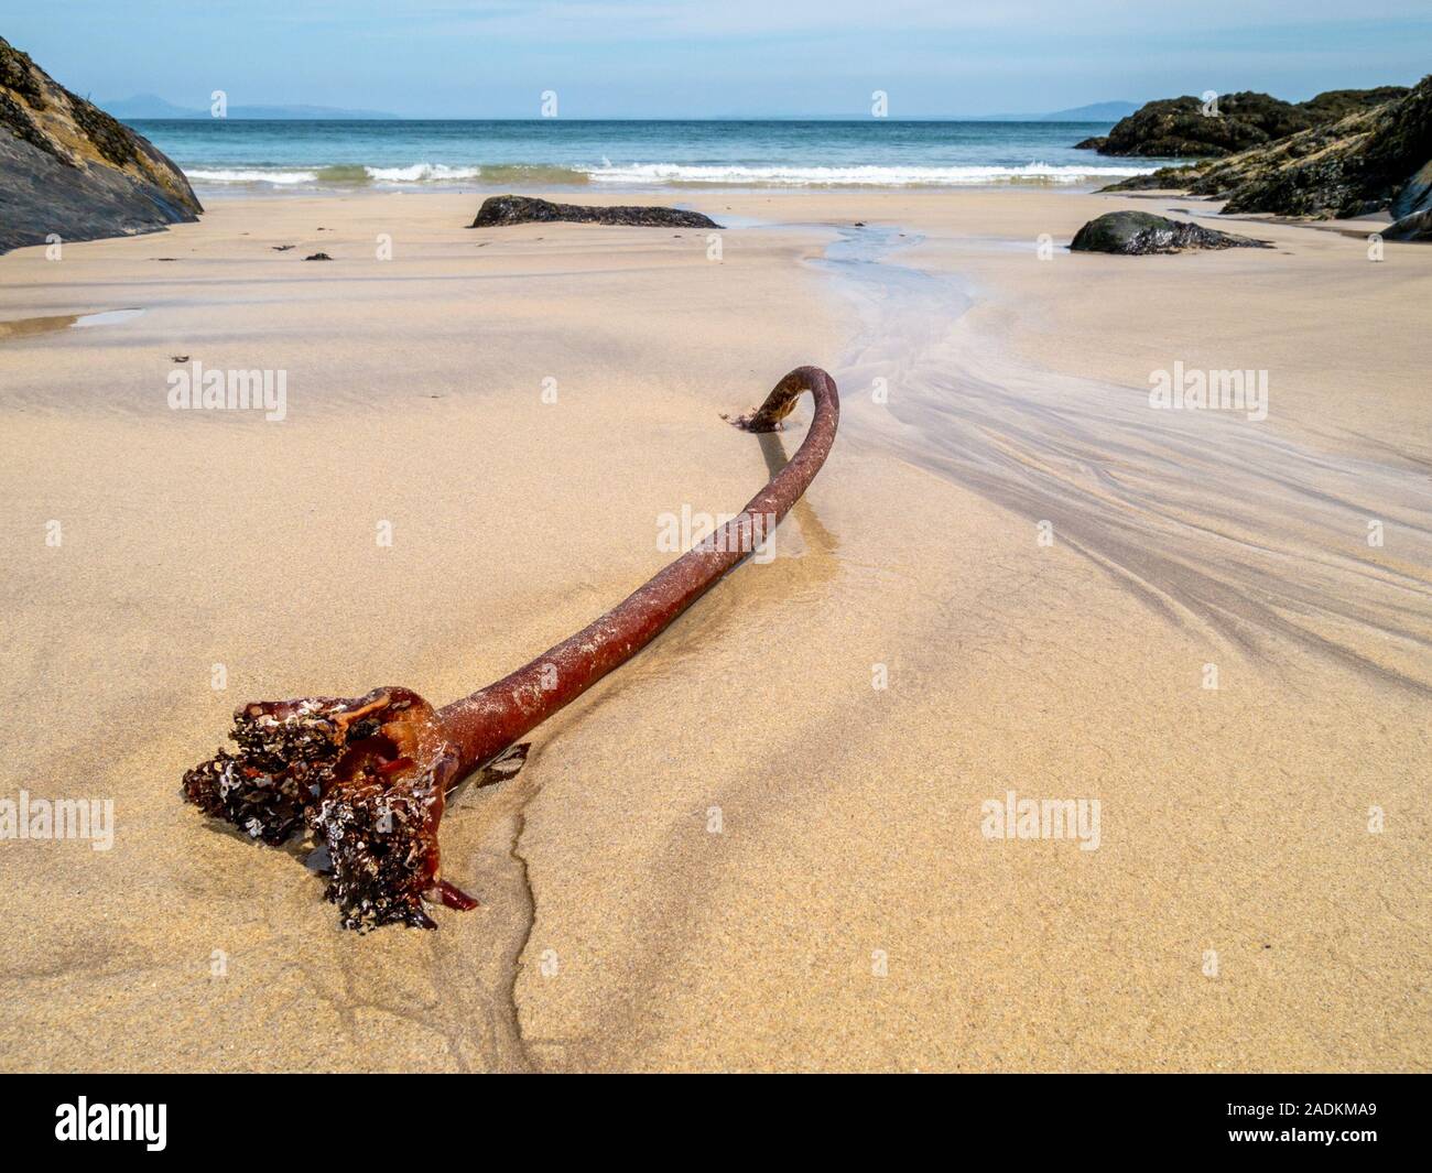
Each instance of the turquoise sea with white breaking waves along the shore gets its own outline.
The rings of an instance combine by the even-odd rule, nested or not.
[[[968,186],[1111,182],[1161,160],[1073,145],[1083,122],[261,122],[135,127],[200,189],[342,185]]]

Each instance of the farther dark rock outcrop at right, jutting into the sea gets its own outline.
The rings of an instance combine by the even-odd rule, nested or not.
[[[1236,155],[1373,109],[1406,92],[1403,86],[1329,90],[1307,102],[1283,102],[1266,93],[1226,93],[1219,96],[1216,107],[1207,107],[1209,113],[1197,97],[1166,97],[1117,122],[1097,150],[1183,159]]]

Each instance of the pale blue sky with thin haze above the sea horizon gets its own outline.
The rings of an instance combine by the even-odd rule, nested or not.
[[[891,117],[1409,83],[1428,0],[44,0],[0,36],[96,100],[412,117]],[[1356,19],[1349,19],[1356,11]]]

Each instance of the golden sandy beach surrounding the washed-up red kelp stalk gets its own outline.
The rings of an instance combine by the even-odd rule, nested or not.
[[[1217,206],[1157,193],[683,189],[719,251],[480,198],[0,258],[0,795],[115,811],[0,849],[7,1070],[1428,1070],[1432,249],[1064,248]],[[173,410],[195,361],[284,418]],[[1150,408],[1176,362],[1266,418]],[[800,364],[842,430],[775,559],[444,819],[480,909],[342,932],[180,802],[242,702],[447,702],[590,622],[795,451],[808,405],[720,417]],[[1010,792],[1097,844],[990,838]]]

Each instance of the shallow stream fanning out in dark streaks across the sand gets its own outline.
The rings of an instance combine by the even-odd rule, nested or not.
[[[1313,450],[1256,411],[1156,410],[1146,390],[1011,361],[958,331],[974,296],[958,276],[899,264],[916,236],[839,232],[816,264],[865,322],[832,372],[852,435],[1031,528],[1048,523],[1173,624],[1432,695],[1425,467]]]

